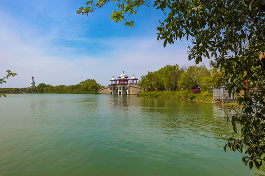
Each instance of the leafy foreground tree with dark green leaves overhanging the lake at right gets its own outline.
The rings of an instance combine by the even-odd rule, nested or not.
[[[109,1],[89,1],[86,5],[90,6],[80,7],[77,13],[86,15]],[[149,3],[117,3],[121,10],[113,11],[111,19],[123,21],[124,14],[135,14],[135,8],[144,4]],[[192,38],[188,59],[195,59],[196,64],[203,57],[213,59],[224,72],[226,89],[238,95],[238,106],[227,114],[234,133],[227,136],[224,149],[239,151],[245,165],[251,169],[255,164],[259,169],[265,160],[265,0],[155,0],[154,6],[166,14],[157,27],[164,46]],[[133,22],[125,25],[132,27]],[[250,91],[246,80],[254,90]]]

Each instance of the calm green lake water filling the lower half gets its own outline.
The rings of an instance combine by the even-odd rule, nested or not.
[[[126,95],[0,98],[0,176],[253,176],[220,105]]]

